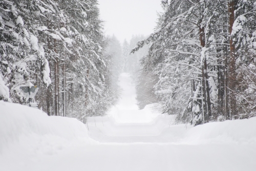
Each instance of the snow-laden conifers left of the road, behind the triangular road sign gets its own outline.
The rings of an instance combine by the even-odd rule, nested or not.
[[[35,85],[39,109],[79,120],[115,103],[97,0],[2,0],[0,41],[0,100]]]

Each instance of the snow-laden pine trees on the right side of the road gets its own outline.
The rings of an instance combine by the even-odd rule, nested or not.
[[[256,1],[162,0],[144,71],[163,112],[198,125],[256,115]],[[152,82],[152,81],[151,81]]]

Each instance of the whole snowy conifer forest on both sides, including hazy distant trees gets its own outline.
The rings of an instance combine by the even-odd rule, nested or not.
[[[0,98],[26,103],[19,88],[32,83],[39,109],[83,120],[115,104],[130,72],[140,109],[163,103],[194,125],[255,116],[255,1],[161,1],[155,32],[122,45],[104,36],[97,4],[1,1]]]

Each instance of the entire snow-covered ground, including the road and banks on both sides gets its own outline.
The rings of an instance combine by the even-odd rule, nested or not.
[[[0,101],[0,170],[255,170],[256,118],[174,125],[156,104],[138,110],[129,75],[109,116],[48,117]]]

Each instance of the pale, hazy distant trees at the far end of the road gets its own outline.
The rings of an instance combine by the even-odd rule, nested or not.
[[[151,72],[145,72],[141,69],[140,59],[147,54],[148,46],[144,46],[136,53],[130,54],[131,50],[136,46],[137,42],[143,40],[143,35],[133,35],[128,42],[124,40],[122,44],[113,36],[108,36],[109,46],[106,48],[106,53],[112,57],[112,86],[113,90],[120,94],[122,90],[118,87],[118,76],[121,72],[130,73],[136,84],[136,99],[139,109],[143,109],[145,105],[157,102],[157,97],[154,94],[153,86],[157,82],[158,77]]]

